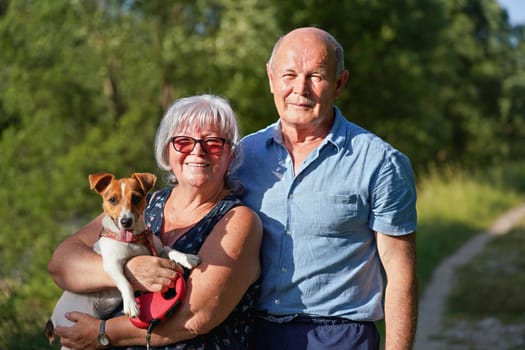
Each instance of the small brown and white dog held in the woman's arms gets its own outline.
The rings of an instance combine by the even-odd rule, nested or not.
[[[156,180],[156,176],[149,173],[133,173],[131,177],[122,179],[116,179],[109,173],[89,175],[91,189],[102,196],[105,214],[102,219],[103,232],[93,249],[102,255],[104,270],[118,290],[111,288],[93,294],[64,291],[45,327],[50,342],[55,338],[56,325],[73,325],[64,316],[68,311],[81,311],[105,319],[122,301],[126,315],[139,315],[135,293],[124,275],[124,264],[130,258],[137,255],[160,255],[188,269],[200,263],[197,255],[162,247],[160,239],[145,230],[146,195]]]

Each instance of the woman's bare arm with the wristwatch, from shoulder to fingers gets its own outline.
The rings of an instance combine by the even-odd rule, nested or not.
[[[185,301],[154,328],[151,345],[191,339],[223,322],[259,276],[261,238],[262,224],[249,208],[236,207],[222,218],[199,251],[202,262],[187,281]],[[57,329],[62,345],[96,348],[100,321],[85,314],[74,317],[75,326]],[[106,333],[113,346],[145,344],[145,330],[127,317],[108,320]]]

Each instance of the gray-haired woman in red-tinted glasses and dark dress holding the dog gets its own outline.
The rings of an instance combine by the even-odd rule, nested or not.
[[[228,102],[200,95],[177,100],[164,115],[155,139],[155,156],[169,172],[170,185],[152,194],[145,220],[165,245],[198,254],[201,264],[187,278],[186,296],[175,313],[157,325],[151,346],[163,349],[242,349],[248,347],[259,276],[262,225],[238,198],[228,174],[238,161],[239,131]],[[102,215],[68,237],[55,250],[49,272],[62,289],[94,292],[115,287],[92,247]],[[138,256],[126,264],[136,290],[165,290],[179,267],[169,260]],[[248,310],[248,311],[247,311]],[[128,317],[101,321],[71,312],[72,327],[58,327],[63,346],[73,349],[146,344],[146,330]]]

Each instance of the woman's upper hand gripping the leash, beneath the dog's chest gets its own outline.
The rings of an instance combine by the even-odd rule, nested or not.
[[[128,260],[124,273],[134,290],[166,291],[182,268],[174,261],[156,256],[139,255]]]

